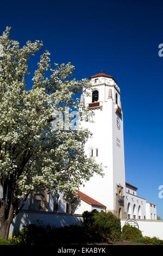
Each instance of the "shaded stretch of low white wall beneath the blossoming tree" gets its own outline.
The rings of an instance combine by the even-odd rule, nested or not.
[[[51,224],[55,227],[64,227],[65,225],[83,224],[82,215],[71,215],[71,214],[60,214],[53,212],[35,212],[35,211],[26,211],[22,210],[12,221],[9,231],[9,236],[15,232],[21,230],[23,225],[27,224],[36,224],[36,225],[47,225]]]

